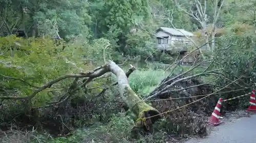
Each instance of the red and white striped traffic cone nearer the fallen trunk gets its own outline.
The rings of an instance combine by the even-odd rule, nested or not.
[[[214,109],[214,112],[212,112],[209,120],[207,121],[208,124],[210,125],[214,125],[214,126],[217,126],[221,123],[224,123],[224,122],[220,122],[219,118],[220,118],[220,110],[221,110],[221,102],[222,102],[222,98],[219,99],[215,109]]]

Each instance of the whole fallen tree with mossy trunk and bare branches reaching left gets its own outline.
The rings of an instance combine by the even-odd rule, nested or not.
[[[71,86],[69,87],[68,91],[61,96],[60,100],[55,102],[49,102],[48,106],[58,106],[60,104],[64,104],[68,99],[71,98],[71,96],[75,93],[76,90],[80,89],[81,87],[84,87],[86,84],[88,84],[90,81],[96,79],[96,78],[104,78],[110,75],[106,75],[109,71],[111,71],[114,75],[116,75],[118,82],[114,83],[113,85],[118,84],[118,91],[119,95],[122,98],[122,100],[125,102],[126,106],[130,108],[130,110],[136,115],[136,118],[134,119],[136,121],[134,128],[132,129],[133,133],[136,133],[138,130],[144,130],[148,131],[150,126],[154,124],[160,116],[159,111],[153,108],[152,106],[146,104],[144,101],[142,101],[137,94],[132,90],[132,88],[129,85],[129,81],[127,77],[135,70],[135,67],[132,66],[129,71],[125,74],[125,72],[113,61],[109,61],[103,66],[97,67],[92,71],[88,71],[86,73],[80,73],[80,74],[68,74],[60,76],[59,78],[56,78],[44,86],[38,87],[34,92],[32,92],[29,96],[25,97],[16,97],[16,96],[2,96],[0,99],[3,100],[26,100],[31,101],[37,93],[39,93],[42,90],[45,90],[47,88],[50,88],[53,86],[53,84],[56,84],[59,81],[62,81],[67,78],[75,78]],[[22,82],[26,82],[22,79],[15,79],[12,77],[7,77],[2,75],[5,79],[14,79],[14,80],[20,80]],[[83,79],[83,82],[81,85],[77,85],[78,80],[80,78]],[[31,84],[29,84],[31,85]],[[104,92],[106,88],[102,90]],[[40,107],[36,107],[40,108]],[[145,120],[146,117],[154,116],[153,118],[148,118]]]

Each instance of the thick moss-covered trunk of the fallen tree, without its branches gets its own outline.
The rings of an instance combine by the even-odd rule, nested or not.
[[[140,130],[149,131],[151,126],[160,118],[160,115],[158,115],[159,111],[146,104],[137,96],[130,87],[124,71],[115,62],[109,61],[109,69],[117,76],[118,91],[122,100],[136,115],[136,123],[132,132],[135,133]]]

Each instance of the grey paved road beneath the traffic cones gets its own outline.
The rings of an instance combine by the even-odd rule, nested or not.
[[[233,122],[226,121],[215,127],[206,138],[191,139],[185,143],[255,143],[256,115],[242,117]]]

